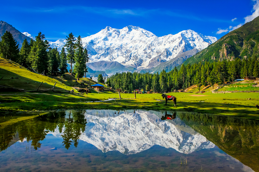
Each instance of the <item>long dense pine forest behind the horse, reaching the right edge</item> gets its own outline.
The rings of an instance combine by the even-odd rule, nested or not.
[[[197,85],[224,84],[227,81],[254,76],[259,77],[258,59],[256,56],[236,58],[232,61],[198,62],[182,64],[174,70],[157,73],[123,72],[107,77],[106,84],[112,88],[121,88],[128,92],[134,89],[153,92],[173,92]]]

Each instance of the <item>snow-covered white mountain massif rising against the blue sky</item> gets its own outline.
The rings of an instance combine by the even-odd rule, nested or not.
[[[94,35],[82,38],[82,43],[88,50],[89,62],[117,61],[136,69],[145,69],[156,67],[193,48],[202,50],[216,40],[215,37],[203,36],[193,30],[157,37],[136,26],[123,29],[107,26]],[[66,42],[58,40],[49,43],[52,48],[57,47],[61,51]]]

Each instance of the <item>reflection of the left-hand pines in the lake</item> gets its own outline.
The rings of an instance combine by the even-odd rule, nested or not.
[[[84,111],[70,111],[69,117],[65,118],[64,111],[49,112],[43,116],[38,116],[28,120],[15,122],[6,127],[0,127],[0,148],[1,151],[7,149],[17,141],[31,141],[35,150],[41,147],[40,141],[45,139],[48,132],[54,132],[58,127],[59,132],[63,132],[63,145],[68,149],[71,143],[77,147],[78,139],[85,130],[87,124],[84,118]]]

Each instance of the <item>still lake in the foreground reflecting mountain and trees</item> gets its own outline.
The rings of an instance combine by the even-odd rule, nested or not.
[[[259,171],[259,122],[143,110],[0,117],[1,171]]]

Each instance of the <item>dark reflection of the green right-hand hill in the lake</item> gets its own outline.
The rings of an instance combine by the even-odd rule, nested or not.
[[[221,150],[259,171],[259,121],[233,116],[178,113],[181,120]]]

